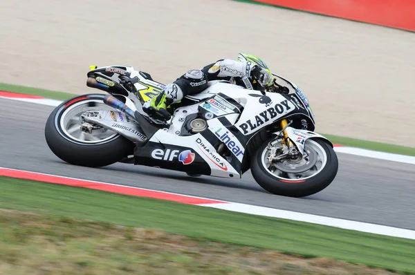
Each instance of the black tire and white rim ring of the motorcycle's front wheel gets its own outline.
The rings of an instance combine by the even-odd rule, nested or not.
[[[318,148],[322,149],[321,152],[324,152],[326,158],[324,167],[321,167],[321,169],[313,176],[290,179],[279,178],[278,176],[273,175],[263,162],[264,151],[266,151],[268,142],[271,140],[264,142],[252,156],[251,160],[252,176],[262,188],[266,189],[266,191],[276,195],[298,198],[320,192],[333,182],[338,172],[338,158],[331,145],[327,142],[320,139],[306,140],[306,149],[307,145],[311,144],[311,142],[315,143],[313,144],[314,146],[319,146]]]

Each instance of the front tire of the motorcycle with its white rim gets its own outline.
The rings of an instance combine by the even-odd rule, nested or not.
[[[270,142],[271,140],[268,140]],[[268,142],[264,142],[252,156],[251,172],[255,181],[266,191],[281,196],[304,197],[322,191],[333,182],[338,172],[338,158],[335,151],[324,140],[306,140],[305,151],[315,158],[320,154],[320,167],[317,162],[309,171],[286,173],[267,167],[266,158]],[[314,151],[314,153],[312,152]],[[308,161],[308,164],[310,161]],[[307,162],[303,166],[308,165]],[[284,164],[283,164],[284,165]],[[280,166],[283,167],[283,166]],[[284,166],[289,167],[289,166]],[[295,167],[293,168],[295,169]]]

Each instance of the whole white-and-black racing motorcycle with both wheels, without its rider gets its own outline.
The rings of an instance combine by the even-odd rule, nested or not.
[[[313,132],[306,95],[274,76],[266,91],[209,82],[202,93],[172,104],[164,122],[142,104],[165,85],[131,66],[91,66],[86,85],[107,94],[57,106],[46,122],[46,142],[58,158],[84,167],[125,162],[220,178],[241,178],[250,169],[270,193],[309,196],[334,180],[338,158],[333,144]]]

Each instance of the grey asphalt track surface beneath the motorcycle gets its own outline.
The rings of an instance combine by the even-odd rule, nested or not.
[[[190,178],[181,172],[133,164],[77,167],[62,162],[48,149],[44,124],[53,108],[0,99],[0,167],[415,229],[412,164],[338,153],[337,178],[320,193],[306,198],[270,194],[259,187],[249,171],[240,180],[228,180]]]

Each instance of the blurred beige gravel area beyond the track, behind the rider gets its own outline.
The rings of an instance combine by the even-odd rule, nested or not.
[[[250,53],[308,96],[317,132],[414,146],[413,32],[231,0],[3,0],[0,10],[1,82],[92,93],[90,64],[172,82]]]

